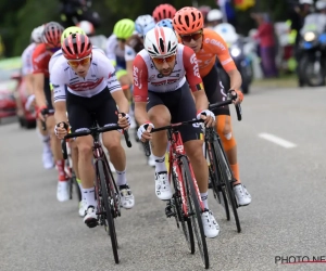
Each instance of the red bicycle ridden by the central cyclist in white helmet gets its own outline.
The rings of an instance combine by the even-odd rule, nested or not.
[[[201,259],[205,269],[209,269],[209,251],[201,221],[201,214],[204,211],[204,206],[201,201],[191,164],[184,150],[181,136],[178,131],[178,127],[183,125],[192,125],[202,121],[203,120],[192,119],[179,124],[172,124],[170,126],[154,128],[151,132],[167,130],[168,142],[171,142],[168,180],[170,182],[172,180],[175,192],[172,199],[167,203],[165,214],[167,217],[175,217],[177,228],[179,228],[180,222],[191,254],[195,254],[195,232]],[[151,153],[149,142],[146,142],[145,146],[146,154],[149,156]]]

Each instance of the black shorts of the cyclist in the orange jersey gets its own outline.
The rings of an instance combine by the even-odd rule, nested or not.
[[[210,104],[223,102],[226,100],[226,92],[222,85],[222,81],[220,80],[218,72],[215,65],[212,67],[210,73],[202,78],[202,81]],[[213,109],[213,113],[215,114],[215,116],[218,115],[229,116],[229,107],[228,105],[225,105],[223,107]]]

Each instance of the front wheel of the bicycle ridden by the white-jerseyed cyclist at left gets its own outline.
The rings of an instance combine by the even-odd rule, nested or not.
[[[98,172],[99,172],[100,183],[101,183],[101,196],[102,196],[102,201],[104,203],[104,208],[105,208],[104,215],[105,215],[105,220],[106,220],[108,227],[109,227],[108,233],[111,238],[114,261],[115,261],[115,263],[118,263],[120,260],[118,260],[118,254],[117,254],[117,240],[116,240],[114,218],[113,218],[113,214],[112,214],[112,204],[111,204],[112,195],[111,195],[110,189],[106,185],[106,183],[109,182],[108,173],[106,173],[108,170],[105,170],[105,164],[103,160],[98,160],[97,164],[98,164]]]

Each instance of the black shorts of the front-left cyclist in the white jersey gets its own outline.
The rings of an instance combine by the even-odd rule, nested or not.
[[[90,128],[92,114],[99,126],[117,124],[117,107],[108,88],[91,98],[78,96],[66,91],[66,106],[73,132]]]

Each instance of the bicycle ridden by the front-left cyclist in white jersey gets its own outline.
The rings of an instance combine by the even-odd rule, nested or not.
[[[113,130],[122,129],[117,125],[98,127],[97,121],[93,120],[93,125],[86,131],[68,133],[62,140],[62,153],[63,158],[67,158],[65,140],[77,137],[91,136],[93,138],[93,159],[96,168],[96,198],[98,202],[98,224],[104,225],[105,231],[111,237],[113,257],[115,263],[120,262],[117,254],[117,238],[114,225],[114,219],[121,216],[121,199],[117,185],[114,181],[112,171],[109,167],[108,158],[104,154],[102,145],[100,143],[100,133]],[[129,134],[126,130],[123,130],[126,144],[131,147]]]

